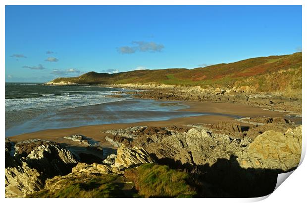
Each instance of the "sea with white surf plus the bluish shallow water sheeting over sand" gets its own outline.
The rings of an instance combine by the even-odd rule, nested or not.
[[[118,93],[118,92],[121,93]],[[204,115],[181,102],[135,99],[131,89],[5,83],[5,136],[87,125]],[[108,97],[108,95],[121,97]]]

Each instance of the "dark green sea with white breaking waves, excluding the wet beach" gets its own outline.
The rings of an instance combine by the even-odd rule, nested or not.
[[[47,86],[43,83],[5,83],[5,111],[62,110],[125,100],[106,95],[123,91],[121,88],[98,86]],[[131,90],[124,90],[124,92]]]

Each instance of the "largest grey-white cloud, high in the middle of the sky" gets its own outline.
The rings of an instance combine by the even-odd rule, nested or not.
[[[145,41],[133,41],[131,43],[133,46],[124,46],[117,48],[117,51],[121,54],[133,54],[137,51],[139,52],[161,52],[164,48],[163,44],[157,44],[155,42],[145,42]]]

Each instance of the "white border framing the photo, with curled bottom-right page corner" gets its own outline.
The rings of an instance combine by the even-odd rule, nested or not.
[[[302,36],[303,36],[303,43],[302,48],[306,48],[306,40],[305,37],[307,36],[306,30],[307,30],[307,21],[306,21],[306,1],[304,0],[1,0],[0,1],[0,64],[1,67],[5,67],[5,7],[4,5],[117,5],[117,4],[123,4],[123,5],[303,5],[303,25],[302,25]],[[306,62],[304,59],[307,59],[306,54],[303,53],[303,67],[305,67]],[[306,71],[303,68],[303,78],[306,76]],[[306,78],[306,77],[305,77]],[[4,70],[1,71],[1,129],[2,129],[2,135],[5,135],[5,127],[4,127],[4,114],[5,114],[5,104],[4,104],[4,79],[5,79],[5,72]],[[303,80],[303,90],[306,90],[306,82]],[[304,94],[303,91],[303,104],[306,101],[306,94]],[[306,115],[306,109],[303,108],[303,115]],[[306,126],[306,119],[303,116],[303,126]],[[306,154],[306,130],[303,127],[303,151],[302,151],[302,159],[301,163],[305,157]],[[1,141],[2,146],[4,145],[4,139]],[[2,157],[2,170],[4,170],[4,153],[1,153]],[[305,161],[306,162],[306,161]],[[285,180],[285,183],[281,185],[281,187],[277,188],[276,191],[273,192],[273,194],[267,198],[254,198],[254,199],[176,199],[175,201],[179,202],[186,202],[186,201],[193,201],[193,202],[256,202],[260,201],[262,199],[265,199],[264,202],[295,202],[306,199],[306,191],[304,189],[305,182],[306,182],[306,163],[303,163],[299,166],[297,170],[293,172],[291,175],[291,178]],[[4,174],[4,171],[3,173]],[[4,176],[2,176],[2,180],[4,179]],[[1,197],[4,198],[4,180],[2,181],[1,187]],[[4,199],[7,202],[15,202],[15,201],[25,201],[25,202],[36,202],[36,201],[42,201],[40,199]],[[44,202],[53,202],[53,199],[44,199]],[[56,201],[63,201],[56,200]],[[64,200],[65,201],[65,200]],[[71,200],[68,200],[71,201]],[[83,199],[74,199],[73,201],[88,201]],[[155,202],[155,199],[91,199],[90,201],[107,201],[107,202]],[[168,199],[158,200],[158,201],[173,201]]]

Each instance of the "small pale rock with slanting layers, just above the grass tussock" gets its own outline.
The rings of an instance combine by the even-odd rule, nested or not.
[[[117,157],[115,158],[114,166],[123,169],[153,162],[154,160],[143,148],[128,148],[125,147],[125,145],[121,145],[117,149]]]

